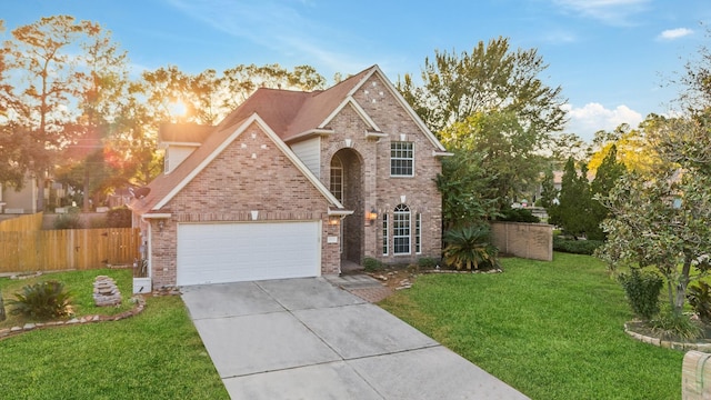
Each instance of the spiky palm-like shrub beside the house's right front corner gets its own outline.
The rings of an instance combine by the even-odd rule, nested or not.
[[[444,262],[458,270],[500,268],[499,249],[490,243],[488,226],[450,229],[444,233]]]

